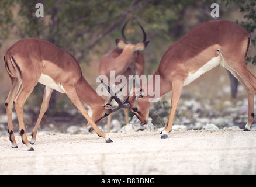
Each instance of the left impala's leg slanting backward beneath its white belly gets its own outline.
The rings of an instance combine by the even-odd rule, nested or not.
[[[32,133],[31,133],[32,138],[30,140],[30,144],[32,144],[32,145],[36,142],[37,129],[39,127],[41,119],[43,118],[44,113],[46,113],[46,110],[48,109],[49,101],[51,98],[51,93],[53,93],[53,89],[46,86],[44,88],[44,97],[43,97],[43,102],[41,103],[39,117],[37,119],[36,125],[34,126]]]

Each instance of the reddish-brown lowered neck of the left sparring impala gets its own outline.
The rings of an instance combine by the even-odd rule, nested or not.
[[[75,86],[78,97],[84,102],[87,103],[91,108],[94,105],[104,105],[105,99],[99,96],[96,91],[88,84],[85,78],[82,76],[79,83]]]

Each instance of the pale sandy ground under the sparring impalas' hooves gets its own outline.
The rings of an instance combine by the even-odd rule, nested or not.
[[[40,135],[27,151],[0,137],[1,175],[256,175],[256,130]]]

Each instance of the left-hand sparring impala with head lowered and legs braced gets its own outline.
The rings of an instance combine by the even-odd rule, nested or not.
[[[83,77],[77,60],[67,51],[45,40],[35,38],[21,39],[5,51],[4,61],[12,82],[11,90],[5,101],[9,140],[12,143],[12,148],[18,147],[13,134],[13,105],[18,115],[22,143],[26,144],[27,150],[33,151],[31,144],[36,141],[37,129],[48,108],[51,93],[54,89],[58,92],[66,93],[98,136],[105,138],[106,142],[112,142],[96,126],[96,123],[119,108],[112,108],[111,103],[97,95],[96,91]],[[37,82],[45,85],[45,89],[40,114],[32,131],[32,139],[29,142],[23,121],[23,106]],[[80,99],[91,107],[91,117]]]

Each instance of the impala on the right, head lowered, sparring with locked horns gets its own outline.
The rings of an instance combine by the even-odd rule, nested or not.
[[[143,124],[147,124],[151,98],[146,92],[150,86],[155,88],[154,79],[158,77],[159,95],[172,91],[171,110],[165,129],[161,132],[161,138],[167,138],[172,130],[182,87],[217,65],[221,65],[229,70],[247,91],[248,122],[244,130],[248,131],[254,123],[254,92],[256,92],[256,77],[248,70],[245,63],[250,45],[250,33],[236,23],[226,20],[202,23],[168,47],[153,78],[139,89],[133,89],[124,107],[129,108]]]

